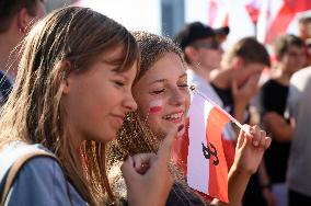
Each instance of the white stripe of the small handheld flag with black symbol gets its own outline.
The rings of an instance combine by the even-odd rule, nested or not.
[[[207,144],[206,123],[212,107],[211,104],[204,101],[199,95],[193,95],[189,108],[187,182],[191,187],[206,194],[208,194],[209,160],[203,156],[201,142]]]

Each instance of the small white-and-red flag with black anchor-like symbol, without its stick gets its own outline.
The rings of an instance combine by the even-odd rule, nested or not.
[[[228,168],[221,134],[229,117],[197,93],[189,108],[187,183],[228,203]]]

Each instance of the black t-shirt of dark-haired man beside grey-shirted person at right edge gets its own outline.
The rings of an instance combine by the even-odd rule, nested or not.
[[[267,112],[276,112],[283,116],[287,95],[287,85],[280,84],[275,80],[268,80],[261,89],[262,115]],[[270,147],[265,152],[265,163],[272,183],[285,182],[289,148],[290,142],[273,140]]]

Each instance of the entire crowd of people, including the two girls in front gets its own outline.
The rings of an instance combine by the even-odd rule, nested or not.
[[[311,18],[269,54],[254,37],[223,50],[229,27],[169,38],[43,3],[0,2],[1,205],[311,203]],[[219,139],[229,203],[187,185],[192,84],[244,124]]]

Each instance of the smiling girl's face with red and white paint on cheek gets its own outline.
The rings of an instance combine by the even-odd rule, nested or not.
[[[185,133],[189,107],[187,75],[180,57],[169,53],[160,58],[133,89],[138,112],[151,130],[163,137],[173,125]]]

